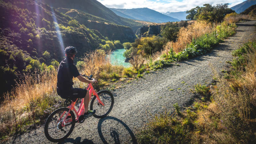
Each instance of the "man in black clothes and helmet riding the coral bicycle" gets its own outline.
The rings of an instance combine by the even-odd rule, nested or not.
[[[95,110],[88,110],[89,91],[81,88],[73,88],[73,77],[77,77],[84,83],[96,83],[96,80],[88,80],[81,76],[78,72],[74,58],[77,53],[76,48],[68,46],[65,49],[66,58],[60,62],[57,74],[57,93],[63,99],[76,101],[77,98],[84,98],[84,118],[88,118],[95,114]]]

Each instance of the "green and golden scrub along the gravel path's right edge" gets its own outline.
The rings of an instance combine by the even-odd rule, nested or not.
[[[138,143],[254,143],[256,140],[256,41],[233,52],[236,57],[215,83],[197,84],[199,96],[184,111],[155,115],[137,133]]]

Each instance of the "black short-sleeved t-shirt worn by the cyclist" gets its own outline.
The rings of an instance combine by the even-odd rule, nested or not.
[[[60,62],[57,75],[57,92],[58,95],[66,94],[73,88],[73,77],[79,76],[74,61],[70,58],[66,58]]]

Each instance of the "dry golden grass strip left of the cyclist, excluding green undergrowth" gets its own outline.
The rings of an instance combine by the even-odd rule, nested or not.
[[[23,111],[25,106],[41,98],[47,93],[52,93],[57,83],[57,72],[26,75],[24,80],[16,86],[11,93],[4,95],[5,100],[0,107],[0,130],[1,133],[9,133],[16,125],[24,122],[24,118],[32,115]],[[8,132],[9,131],[9,132]],[[2,134],[1,134],[2,135]]]

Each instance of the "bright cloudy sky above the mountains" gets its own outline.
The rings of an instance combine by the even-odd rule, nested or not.
[[[229,4],[229,8],[244,2],[245,0],[98,0],[108,8],[132,9],[143,8],[155,10],[157,12],[182,12],[190,10],[203,4]]]

